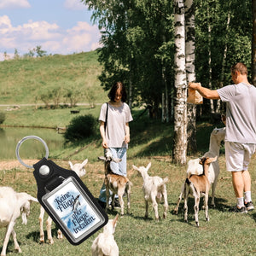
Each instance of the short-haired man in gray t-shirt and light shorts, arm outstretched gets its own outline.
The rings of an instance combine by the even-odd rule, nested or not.
[[[256,87],[248,82],[247,67],[241,62],[231,67],[231,77],[235,84],[218,90],[209,90],[196,83],[189,84],[189,88],[207,99],[226,102],[226,167],[232,173],[237,200],[236,207],[230,211],[247,213],[254,209],[247,168],[256,150]]]

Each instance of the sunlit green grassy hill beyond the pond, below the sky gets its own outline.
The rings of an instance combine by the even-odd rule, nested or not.
[[[40,96],[50,92],[61,92],[63,102],[68,90],[79,102],[102,102],[106,92],[97,79],[100,73],[96,51],[1,61],[0,104],[40,104]]]

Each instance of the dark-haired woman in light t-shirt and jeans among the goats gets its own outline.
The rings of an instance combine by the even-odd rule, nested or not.
[[[130,142],[129,122],[132,121],[131,110],[125,103],[126,91],[121,82],[113,84],[108,93],[110,101],[102,104],[100,113],[100,132],[102,147],[109,148],[113,158],[119,158],[119,163],[111,162],[111,170],[126,177],[126,150]],[[106,189],[102,186],[99,202],[102,207],[106,203]],[[110,202],[108,202],[110,203]]]

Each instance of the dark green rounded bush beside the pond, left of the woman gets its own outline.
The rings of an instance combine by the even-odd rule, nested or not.
[[[91,114],[80,115],[71,120],[64,134],[66,142],[79,142],[96,134],[97,120]]]

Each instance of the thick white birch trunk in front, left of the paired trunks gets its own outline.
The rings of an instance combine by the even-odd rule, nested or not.
[[[172,160],[186,164],[187,156],[187,82],[185,61],[185,17],[183,0],[174,1],[174,54],[175,102]]]

